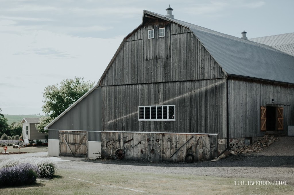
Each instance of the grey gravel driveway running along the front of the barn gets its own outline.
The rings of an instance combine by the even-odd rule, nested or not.
[[[268,181],[286,181],[294,186],[294,137],[279,140],[263,152],[229,156],[216,162],[151,163],[127,160],[76,160],[60,162],[67,170],[129,171],[144,173],[185,174]]]

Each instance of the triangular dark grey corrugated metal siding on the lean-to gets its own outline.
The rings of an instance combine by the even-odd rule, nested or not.
[[[49,130],[101,131],[101,104],[101,89],[97,88],[49,126]]]

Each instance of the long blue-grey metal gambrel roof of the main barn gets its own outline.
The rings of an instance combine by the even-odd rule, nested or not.
[[[294,57],[273,47],[144,10],[189,28],[227,75],[294,84]]]

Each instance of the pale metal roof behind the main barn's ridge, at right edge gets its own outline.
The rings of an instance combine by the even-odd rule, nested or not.
[[[257,37],[249,40],[269,45],[275,49],[294,56],[294,33]]]

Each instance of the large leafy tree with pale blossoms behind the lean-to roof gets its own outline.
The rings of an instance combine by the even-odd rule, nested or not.
[[[48,132],[44,130],[44,127],[84,95],[93,85],[94,82],[76,77],[64,79],[60,84],[47,86],[43,93],[45,104],[42,111],[48,116],[41,117],[40,124],[36,125],[39,132]]]

